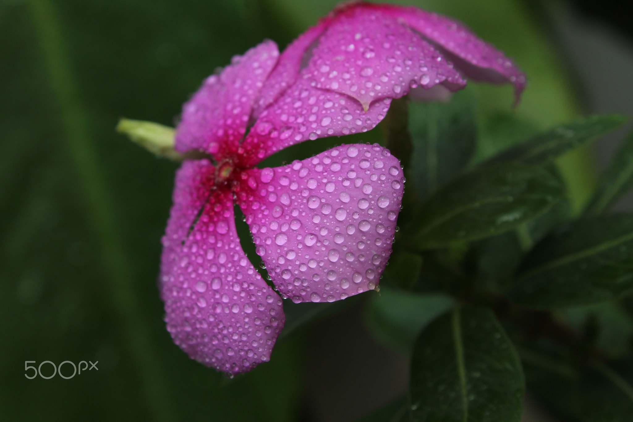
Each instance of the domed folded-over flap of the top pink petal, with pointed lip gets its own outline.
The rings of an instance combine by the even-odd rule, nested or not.
[[[317,88],[357,99],[364,109],[384,97],[399,98],[410,84],[430,88],[466,85],[442,54],[396,18],[359,4],[344,9],[327,28],[304,74]]]

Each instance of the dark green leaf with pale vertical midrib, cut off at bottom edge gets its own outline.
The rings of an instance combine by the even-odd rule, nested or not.
[[[518,354],[490,309],[455,307],[418,337],[413,421],[518,422],[524,392]]]

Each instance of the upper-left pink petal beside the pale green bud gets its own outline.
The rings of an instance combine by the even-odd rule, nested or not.
[[[199,149],[218,161],[230,155],[244,137],[253,103],[277,58],[277,44],[266,40],[244,56],[235,56],[220,75],[206,78],[183,106],[177,151]]]

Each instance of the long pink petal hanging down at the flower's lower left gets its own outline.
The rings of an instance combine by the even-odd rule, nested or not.
[[[279,295],[242,251],[232,192],[209,195],[214,170],[206,160],[185,161],[176,175],[160,287],[173,341],[192,359],[234,374],[270,359],[285,317]]]

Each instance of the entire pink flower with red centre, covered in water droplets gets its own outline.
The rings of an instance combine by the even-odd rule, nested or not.
[[[283,54],[266,40],[207,78],[184,106],[176,149],[210,157],[182,164],[163,237],[161,292],[175,343],[241,373],[270,359],[284,326],[282,300],[242,251],[234,201],[284,297],[331,302],[375,289],[403,195],[398,159],[354,144],[254,166],[306,139],[369,130],[411,87],[454,91],[466,76],[512,82],[517,97],[525,84],[502,53],[448,18],[353,3]]]

